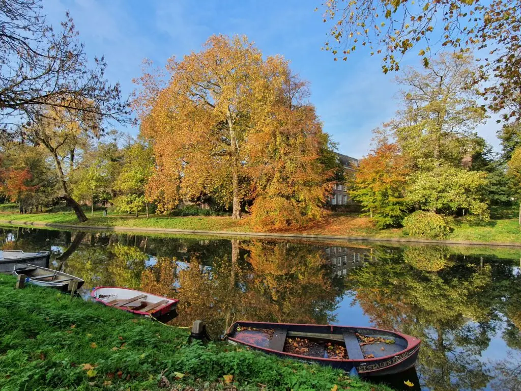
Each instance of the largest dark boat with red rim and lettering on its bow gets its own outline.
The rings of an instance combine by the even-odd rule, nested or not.
[[[227,335],[231,343],[266,353],[378,376],[411,368],[421,343],[378,328],[314,324],[235,322]]]

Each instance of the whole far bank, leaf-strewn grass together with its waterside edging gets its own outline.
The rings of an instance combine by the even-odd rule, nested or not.
[[[0,213],[0,223],[34,225],[39,227],[114,229],[158,233],[195,233],[209,235],[266,236],[302,239],[384,240],[403,242],[445,243],[455,245],[521,246],[521,229],[517,219],[503,213],[501,218],[487,223],[457,222],[454,231],[445,240],[426,240],[407,236],[400,228],[379,230],[368,217],[350,213],[332,213],[328,220],[311,228],[278,233],[255,232],[248,217],[239,221],[230,217],[164,216],[134,217],[96,211],[88,221],[79,223],[73,212],[8,214]]]

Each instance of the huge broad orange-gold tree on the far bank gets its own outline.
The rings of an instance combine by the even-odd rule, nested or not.
[[[320,217],[327,170],[317,159],[327,137],[286,60],[264,59],[244,36],[214,35],[166,70],[167,83],[162,72],[145,72],[134,101],[154,145],[148,198],[159,210],[211,196],[240,218],[241,202],[262,195],[270,213]]]

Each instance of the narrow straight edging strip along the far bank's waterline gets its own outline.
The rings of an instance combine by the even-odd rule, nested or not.
[[[340,235],[313,235],[313,234],[282,234],[282,233],[258,233],[239,231],[208,231],[199,229],[177,229],[177,228],[146,228],[125,226],[89,226],[76,224],[55,224],[42,222],[28,222],[17,220],[0,220],[0,224],[11,226],[34,226],[51,228],[68,228],[80,230],[104,230],[118,232],[142,232],[163,234],[205,234],[219,237],[261,237],[261,238],[293,238],[293,239],[329,239],[346,241],[384,241],[384,242],[409,242],[409,243],[432,243],[441,245],[463,245],[463,246],[494,246],[494,247],[520,247],[521,242],[481,242],[472,240],[429,240],[417,238],[375,238],[370,236],[340,236]]]

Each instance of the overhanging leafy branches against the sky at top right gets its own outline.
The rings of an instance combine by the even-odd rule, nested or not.
[[[487,53],[478,58],[479,69],[473,83],[487,83],[481,92],[492,111],[504,112],[504,118],[519,118],[521,27],[519,2],[493,0],[441,0],[429,2],[374,3],[368,0],[348,2],[331,0],[323,4],[324,22],[333,23],[325,49],[334,59],[347,60],[356,50],[366,47],[371,56],[382,59],[382,71],[399,70],[403,56],[416,50],[425,67],[431,61],[431,49],[452,48],[465,53],[472,48]]]

